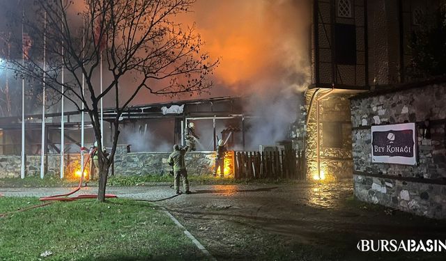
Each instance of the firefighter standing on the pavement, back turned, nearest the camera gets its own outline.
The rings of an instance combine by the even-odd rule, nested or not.
[[[174,189],[177,194],[180,193],[180,177],[183,181],[183,188],[185,193],[190,194],[189,191],[189,180],[187,180],[186,164],[184,161],[184,155],[187,152],[187,146],[185,148],[180,148],[178,145],[174,145],[174,152],[169,155],[170,166],[174,167]]]

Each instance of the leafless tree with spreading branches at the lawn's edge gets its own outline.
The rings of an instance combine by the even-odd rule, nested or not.
[[[187,13],[195,0],[36,0],[33,17],[26,26],[33,37],[33,52],[26,63],[13,68],[25,77],[40,79],[46,88],[89,114],[98,148],[100,100],[114,95],[118,113],[113,120],[113,145],[109,157],[99,156],[98,200],[105,200],[107,174],[118,141],[119,118],[130,102],[144,90],[152,95],[175,96],[208,90],[218,64],[201,53],[203,42],[194,27],[183,28],[176,16]],[[46,67],[43,65],[45,49]],[[112,75],[98,92],[96,75],[100,61]],[[61,68],[70,81],[61,82]],[[132,84],[122,84],[131,77]],[[68,77],[67,77],[68,78]],[[110,77],[109,77],[110,78]],[[87,92],[82,91],[85,84]],[[63,87],[63,88],[62,88]],[[128,93],[125,97],[123,93]]]

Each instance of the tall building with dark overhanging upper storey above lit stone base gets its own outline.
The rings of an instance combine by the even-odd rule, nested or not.
[[[312,1],[307,177],[352,177],[349,98],[413,81],[410,35],[442,2]]]

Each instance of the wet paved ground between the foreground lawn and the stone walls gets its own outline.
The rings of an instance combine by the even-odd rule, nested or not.
[[[436,221],[353,198],[351,180],[321,184],[192,184],[165,207],[217,260],[445,260],[445,253],[361,253],[360,239],[443,239]],[[82,193],[95,193],[84,188]],[[67,188],[3,188],[5,196],[47,196]],[[123,198],[162,199],[168,186],[110,187]]]

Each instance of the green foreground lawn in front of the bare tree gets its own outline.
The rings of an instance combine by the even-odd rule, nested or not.
[[[38,205],[0,198],[0,213]],[[49,254],[41,257],[42,253]],[[206,260],[155,205],[81,200],[0,217],[0,260]]]

